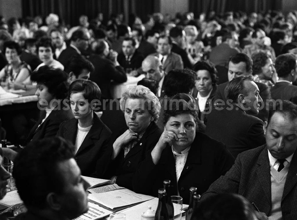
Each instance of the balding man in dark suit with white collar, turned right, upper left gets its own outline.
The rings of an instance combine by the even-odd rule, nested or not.
[[[63,50],[59,56],[58,61],[63,64],[64,69],[67,69],[67,65],[72,56],[80,55],[82,51],[89,47],[90,34],[85,29],[78,29],[74,31],[70,38],[70,45]]]

